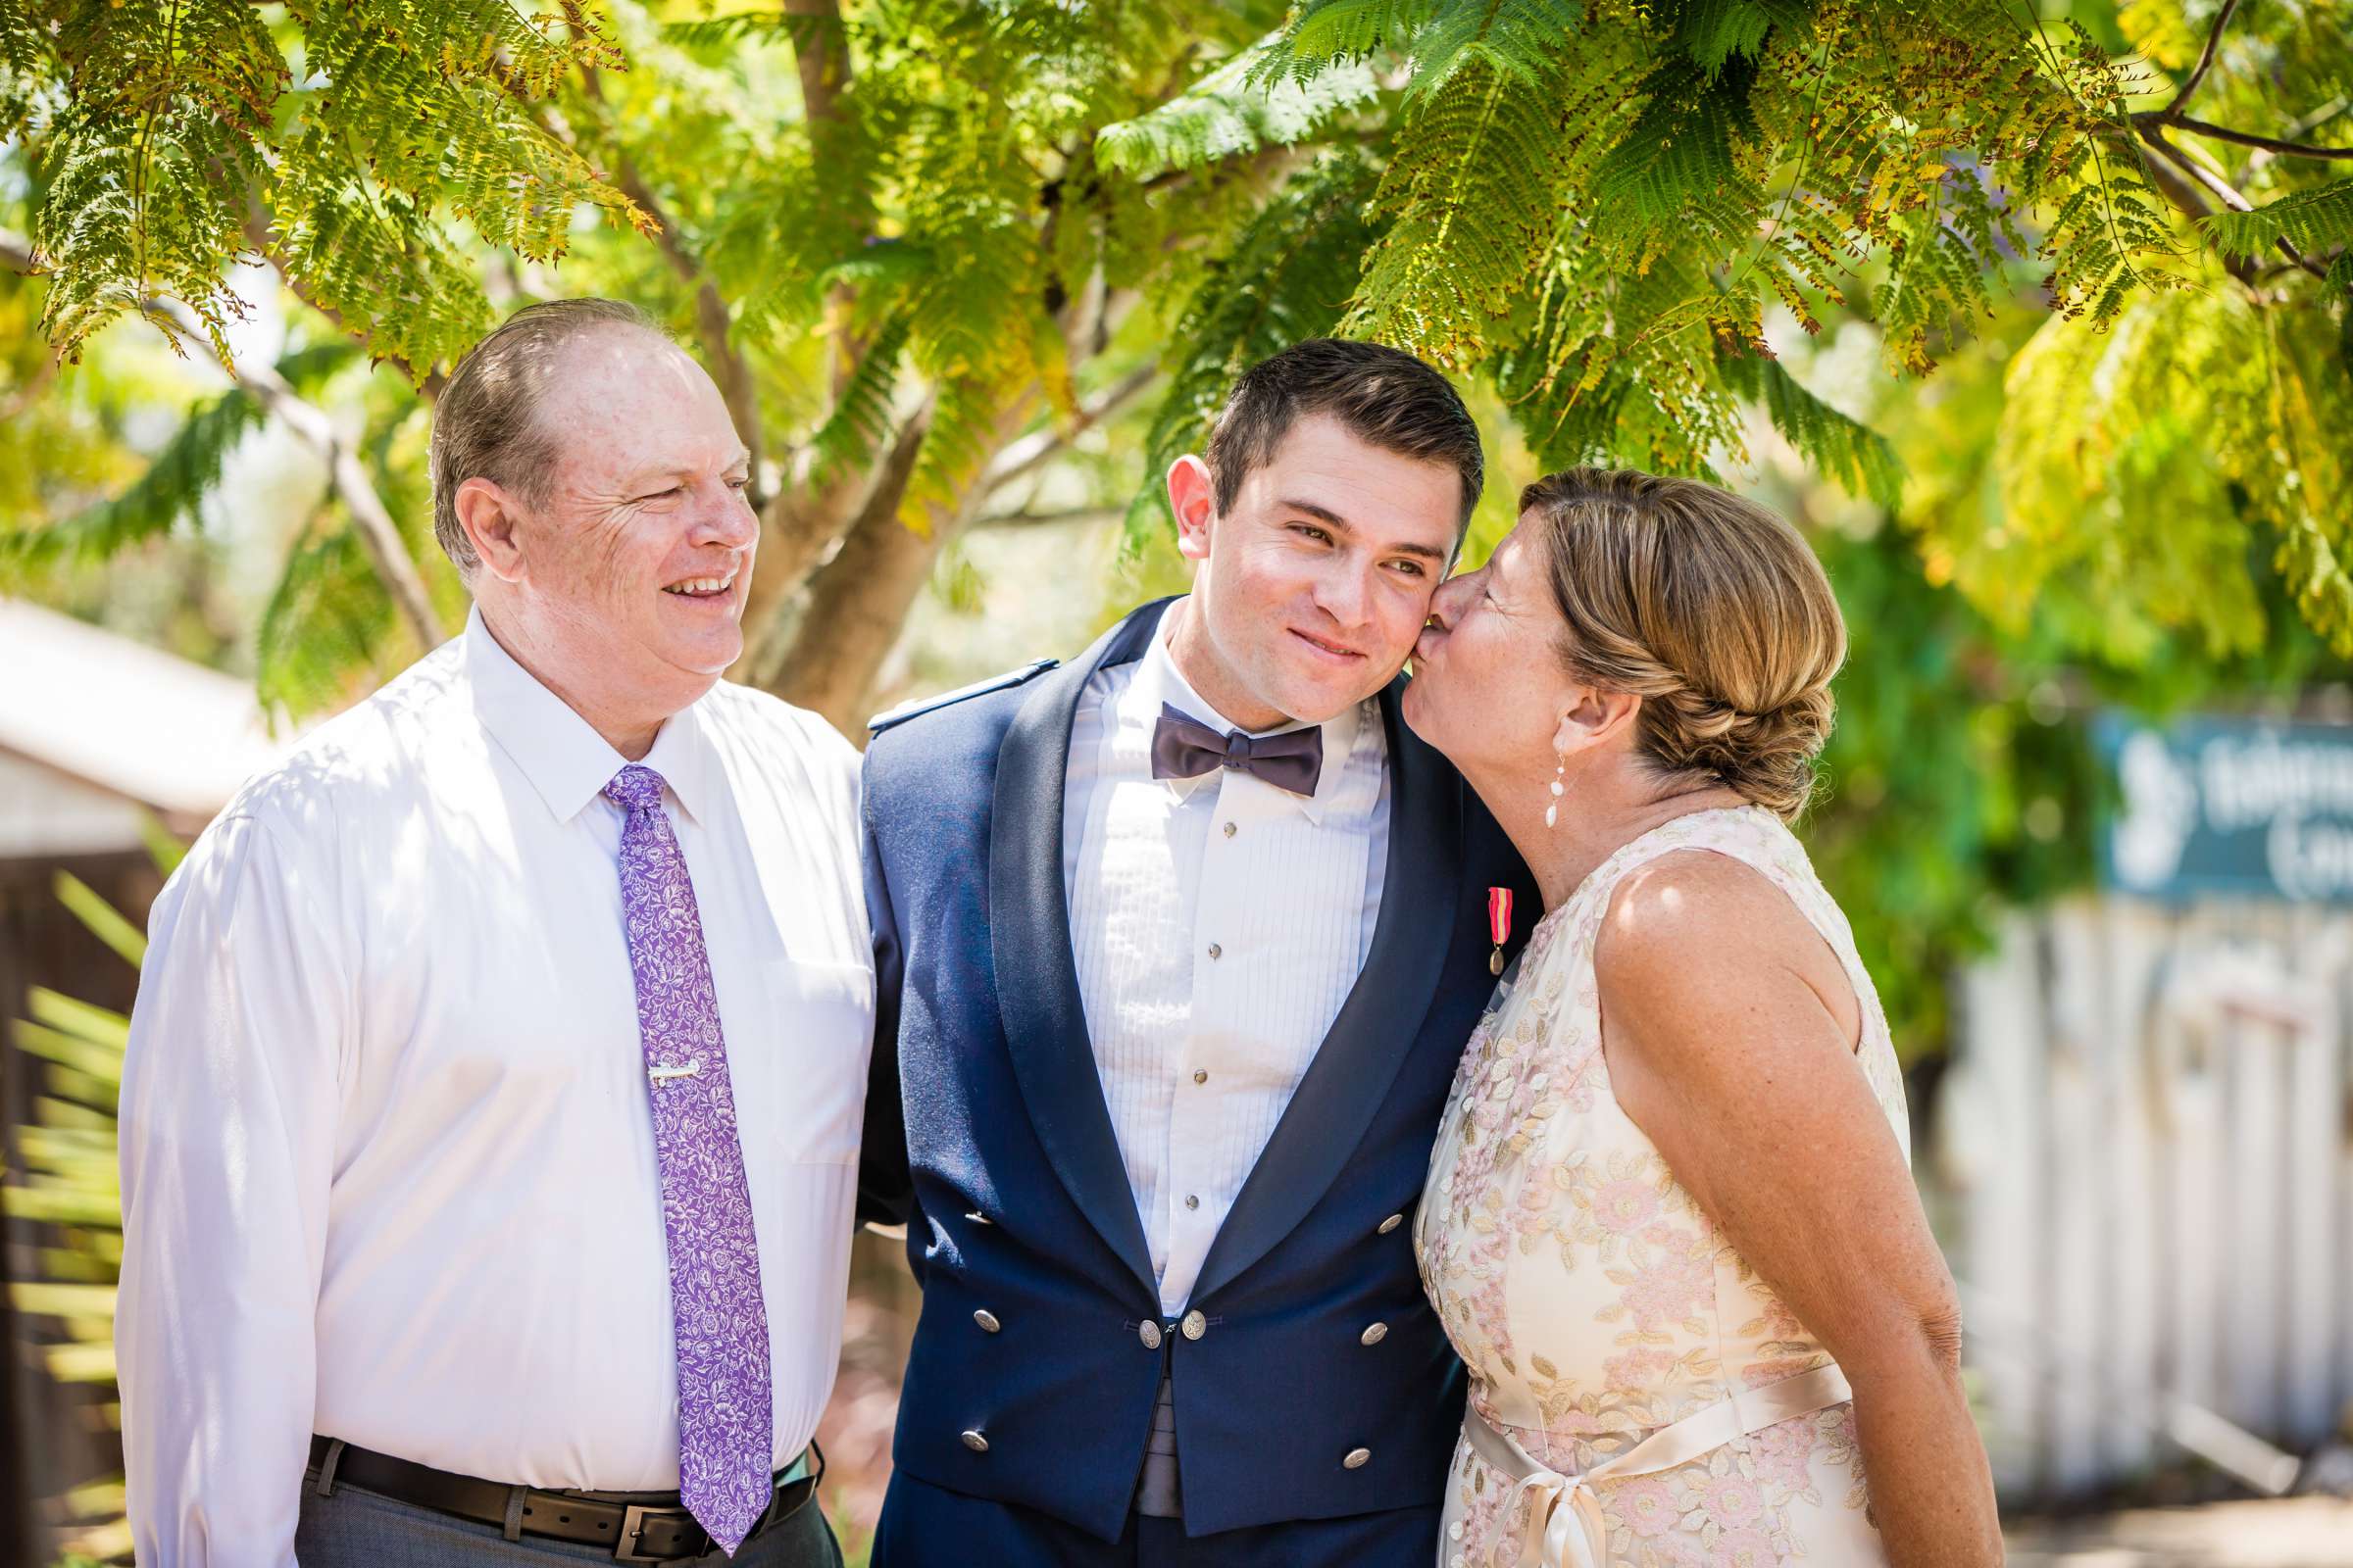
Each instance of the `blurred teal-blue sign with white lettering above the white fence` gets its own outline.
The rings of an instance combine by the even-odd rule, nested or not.
[[[2108,886],[2353,903],[2353,724],[2101,715],[2094,741],[2122,788]]]

